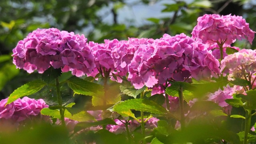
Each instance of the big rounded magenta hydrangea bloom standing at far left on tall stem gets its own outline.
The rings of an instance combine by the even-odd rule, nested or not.
[[[73,75],[83,76],[95,67],[87,38],[56,28],[34,30],[12,51],[16,67],[29,73],[34,70],[43,73],[53,66],[62,68],[62,72],[70,70]]]

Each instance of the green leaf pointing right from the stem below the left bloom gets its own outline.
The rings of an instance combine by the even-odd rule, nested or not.
[[[88,96],[101,96],[104,95],[104,88],[100,84],[88,82],[81,78],[70,78],[68,86],[77,94],[84,94]]]

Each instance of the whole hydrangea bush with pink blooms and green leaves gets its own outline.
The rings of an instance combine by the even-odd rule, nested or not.
[[[74,143],[255,142],[256,51],[232,46],[237,39],[252,44],[254,33],[241,16],[218,14],[199,17],[192,37],[99,44],[83,34],[37,29],[13,49],[13,63],[50,78],[29,82],[0,101],[0,122],[48,116],[43,120],[68,128]],[[59,82],[68,71],[74,76]],[[128,96],[122,101],[111,92],[117,82]],[[92,96],[92,106],[64,104],[63,84]],[[26,97],[49,85],[56,88],[58,105]],[[236,118],[242,130],[229,129]]]

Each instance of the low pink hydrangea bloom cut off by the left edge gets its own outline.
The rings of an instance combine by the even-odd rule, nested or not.
[[[5,106],[7,99],[0,101],[0,120],[21,122],[39,115],[43,108],[48,108],[48,105],[42,99],[34,100],[25,96]]]

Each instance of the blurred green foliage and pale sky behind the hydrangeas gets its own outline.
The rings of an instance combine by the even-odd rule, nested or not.
[[[16,88],[40,78],[12,64],[12,49],[37,28],[58,28],[84,34],[88,41],[160,38],[163,34],[191,36],[203,14],[239,15],[256,31],[256,0],[1,0],[0,100]],[[256,42],[236,42],[256,48]],[[67,73],[66,78],[71,74]],[[65,91],[64,91],[65,92]],[[53,97],[52,90],[44,96]],[[67,95],[69,92],[65,92]]]

